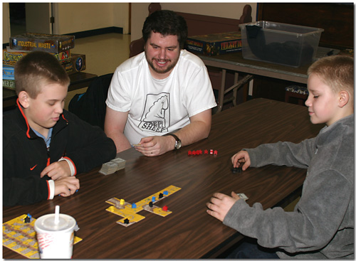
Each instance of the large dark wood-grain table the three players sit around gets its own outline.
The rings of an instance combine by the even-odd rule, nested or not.
[[[3,222],[31,213],[34,218],[53,213],[72,215],[83,241],[74,245],[73,258],[94,259],[194,259],[216,257],[242,235],[206,213],[205,203],[214,192],[245,193],[251,206],[281,205],[298,191],[305,169],[287,166],[249,168],[231,172],[231,156],[245,147],[266,142],[300,142],[315,137],[323,126],[310,123],[307,108],[273,100],[256,99],[215,114],[208,139],[179,151],[146,157],[129,149],[118,156],[125,169],[104,176],[98,169],[78,174],[80,189],[69,198],[56,196],[32,206],[4,207]],[[188,156],[188,151],[213,149],[216,156]],[[116,223],[120,216],[105,211],[112,197],[135,203],[170,185],[182,188],[155,203],[172,211],[161,217],[147,211],[146,218],[125,228]],[[4,258],[21,258],[3,247]]]

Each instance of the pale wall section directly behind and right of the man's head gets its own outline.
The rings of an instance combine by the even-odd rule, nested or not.
[[[160,3],[162,9],[179,11],[190,14],[202,14],[239,19],[246,4],[252,7],[252,21],[256,21],[257,3]],[[148,16],[150,3],[132,3],[131,11],[131,40],[142,37],[142,25]]]

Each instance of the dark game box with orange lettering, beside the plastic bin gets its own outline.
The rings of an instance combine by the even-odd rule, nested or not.
[[[220,55],[242,50],[241,33],[211,33],[187,38],[185,48],[193,53]]]

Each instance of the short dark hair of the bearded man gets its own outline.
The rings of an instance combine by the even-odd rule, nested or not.
[[[151,33],[160,33],[162,36],[177,36],[179,47],[184,48],[187,40],[188,26],[182,16],[169,10],[155,11],[146,18],[142,28],[142,37],[145,43]]]

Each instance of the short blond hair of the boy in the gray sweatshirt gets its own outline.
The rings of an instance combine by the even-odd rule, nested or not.
[[[346,55],[333,55],[317,60],[308,68],[310,74],[318,75],[333,92],[345,90],[354,102],[354,59]]]

